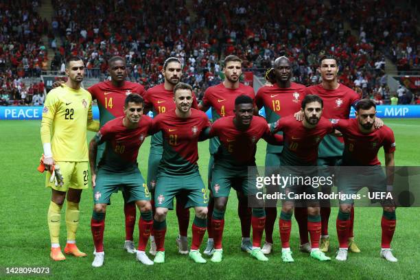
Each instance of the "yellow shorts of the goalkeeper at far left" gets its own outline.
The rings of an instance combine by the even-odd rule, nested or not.
[[[56,189],[57,191],[67,191],[70,189],[87,189],[89,187],[89,171],[87,161],[57,161],[63,177],[63,185],[55,185],[54,180],[49,182],[51,173],[47,172],[45,186]]]

